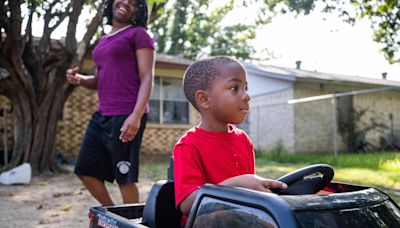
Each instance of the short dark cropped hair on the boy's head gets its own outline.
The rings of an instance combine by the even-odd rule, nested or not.
[[[220,75],[221,66],[232,62],[240,64],[228,56],[215,56],[196,61],[188,67],[183,76],[183,92],[196,109],[196,92],[208,89],[212,81]]]

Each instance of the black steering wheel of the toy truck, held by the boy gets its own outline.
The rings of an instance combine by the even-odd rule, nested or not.
[[[310,165],[278,178],[288,185],[287,189],[270,190],[279,195],[315,194],[331,182],[333,175],[334,171],[330,165]]]

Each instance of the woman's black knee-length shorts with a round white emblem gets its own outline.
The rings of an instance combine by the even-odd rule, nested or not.
[[[124,143],[119,136],[127,117],[103,116],[99,112],[92,115],[79,152],[75,174],[109,182],[117,180],[118,184],[138,182],[139,149],[147,114],[143,115],[135,138]]]

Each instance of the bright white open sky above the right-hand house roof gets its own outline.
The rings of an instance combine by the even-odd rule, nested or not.
[[[325,19],[324,19],[325,18]],[[382,78],[400,81],[400,64],[390,65],[373,41],[369,21],[355,26],[334,15],[280,15],[257,32],[254,45],[276,56],[265,64],[295,68],[302,61],[305,70]]]

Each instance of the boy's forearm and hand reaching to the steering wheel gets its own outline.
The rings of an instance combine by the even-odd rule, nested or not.
[[[248,188],[262,192],[271,192],[269,190],[270,188],[287,188],[287,185],[281,181],[266,179],[253,174],[244,174],[236,177],[231,177],[222,181],[219,184]]]

